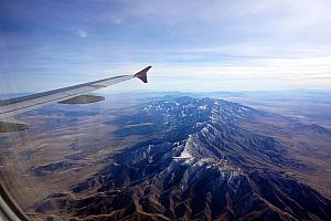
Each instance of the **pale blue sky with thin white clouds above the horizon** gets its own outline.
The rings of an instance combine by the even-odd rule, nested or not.
[[[0,93],[331,90],[330,0],[0,1]]]

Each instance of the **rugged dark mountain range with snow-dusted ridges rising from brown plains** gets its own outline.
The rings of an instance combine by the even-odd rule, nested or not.
[[[264,114],[211,98],[151,102],[116,120],[124,125],[117,136],[148,139],[36,211],[89,220],[330,220],[331,201],[284,172],[305,162],[277,138],[242,127]]]

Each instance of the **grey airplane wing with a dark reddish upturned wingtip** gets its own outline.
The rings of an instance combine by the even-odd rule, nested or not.
[[[60,90],[0,101],[0,133],[18,131],[29,128],[25,123],[19,122],[13,118],[13,116],[18,114],[22,114],[54,103],[87,104],[104,101],[105,97],[86,95],[86,93],[118,84],[120,82],[125,82],[135,77],[140,78],[143,83],[147,83],[147,72],[150,69],[151,66],[148,66],[134,75],[114,76]]]

